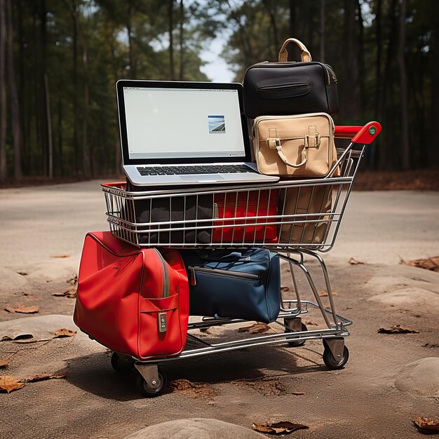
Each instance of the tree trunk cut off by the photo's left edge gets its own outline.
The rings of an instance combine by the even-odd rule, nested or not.
[[[6,8],[0,0],[0,182],[6,180]]]

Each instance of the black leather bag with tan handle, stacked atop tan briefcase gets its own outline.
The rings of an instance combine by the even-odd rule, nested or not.
[[[302,62],[289,62],[286,47],[296,43],[302,50]],[[259,62],[244,75],[245,116],[278,116],[306,113],[334,115],[339,110],[337,77],[332,68],[313,62],[308,49],[299,40],[283,43],[278,62]]]

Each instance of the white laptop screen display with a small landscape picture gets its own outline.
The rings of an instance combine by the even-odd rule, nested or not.
[[[238,90],[123,87],[128,158],[243,158]]]

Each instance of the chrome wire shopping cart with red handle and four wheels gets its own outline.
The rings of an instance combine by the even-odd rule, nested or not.
[[[158,363],[268,344],[302,346],[306,340],[312,339],[323,341],[323,362],[328,368],[337,370],[344,367],[349,358],[344,337],[349,335],[346,328],[352,322],[336,312],[330,278],[319,253],[328,252],[333,247],[365,147],[380,132],[381,126],[377,122],[370,122],[365,126],[336,126],[338,161],[327,177],[314,180],[282,180],[274,184],[142,192],[126,191],[124,183],[103,183],[107,221],[112,234],[123,241],[138,247],[268,248],[278,252],[285,261],[283,264],[288,266],[294,287],[293,298],[282,297],[281,313],[275,322],[270,323],[275,332],[273,334],[249,335],[232,341],[211,343],[205,337],[199,337],[199,332],[196,331],[212,326],[242,323],[245,320],[210,317],[198,319],[199,321],[191,319],[188,340],[193,343],[188,343],[180,356],[139,361],[114,352],[114,369],[126,371],[135,367],[140,372],[137,379],[140,390],[146,396],[158,396],[167,381],[166,374],[159,369]],[[339,142],[343,140],[347,146],[339,148]],[[212,203],[212,217],[199,217],[197,213],[189,217],[185,206],[196,206],[201,199],[208,199]],[[278,206],[276,212],[270,212],[266,208],[273,199]],[[295,201],[287,203],[291,199]],[[221,212],[218,205],[224,206],[227,201],[229,205],[235,204],[234,209],[231,209],[232,215],[224,217],[225,208]],[[152,212],[156,203],[166,205],[168,220],[154,219]],[[178,206],[178,212],[175,206]],[[149,212],[147,222],[139,222],[140,209]],[[273,229],[276,231],[275,238]],[[194,233],[188,234],[189,231]],[[199,238],[205,236],[198,233],[200,231],[208,231],[208,241]],[[318,294],[305,258],[317,262],[318,269],[323,274],[328,306],[323,304]],[[299,292],[297,273],[301,271],[313,300],[302,299]],[[320,311],[325,327],[308,330],[302,323],[301,316],[311,309]]]

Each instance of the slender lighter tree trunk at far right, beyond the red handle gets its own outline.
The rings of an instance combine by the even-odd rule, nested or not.
[[[400,107],[401,107],[401,144],[402,144],[402,165],[403,169],[410,168],[410,141],[408,126],[408,105],[407,105],[407,76],[405,73],[404,46],[405,46],[405,9],[407,0],[400,0],[399,18],[399,41],[398,41],[398,67],[400,74]]]

